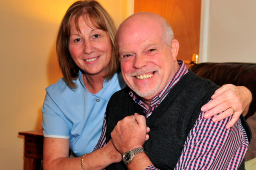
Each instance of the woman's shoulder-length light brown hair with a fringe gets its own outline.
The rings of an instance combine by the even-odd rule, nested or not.
[[[107,80],[111,79],[113,75],[118,71],[120,66],[120,62],[116,53],[116,26],[111,16],[97,1],[77,1],[72,4],[66,11],[66,14],[64,15],[60,24],[56,41],[58,63],[64,76],[64,80],[72,89],[76,89],[77,87],[73,80],[78,77],[78,71],[80,68],[74,63],[70,55],[68,42],[70,38],[70,30],[73,18],[74,23],[76,24],[76,29],[78,32],[80,32],[78,26],[78,19],[80,16],[89,18],[92,26],[106,31],[110,37],[110,42],[112,45],[112,56],[109,63],[109,71],[105,78]]]

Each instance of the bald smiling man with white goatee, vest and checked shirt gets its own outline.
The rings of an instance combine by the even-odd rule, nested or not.
[[[176,59],[179,43],[168,22],[154,13],[136,13],[121,24],[117,41],[129,88],[108,103],[106,142],[112,138],[123,162],[106,169],[237,169],[250,129],[244,119],[245,128],[239,120],[229,129],[231,117],[217,123],[204,119],[200,108],[218,86]]]

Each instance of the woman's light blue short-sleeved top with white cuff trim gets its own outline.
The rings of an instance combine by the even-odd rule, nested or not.
[[[104,80],[103,88],[90,93],[84,86],[82,73],[74,80],[76,89],[70,89],[64,79],[46,88],[42,107],[43,133],[45,137],[70,140],[70,149],[76,156],[92,152],[102,131],[108,100],[125,85],[122,74]]]

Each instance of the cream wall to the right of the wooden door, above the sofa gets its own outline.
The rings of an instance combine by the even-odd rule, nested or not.
[[[207,61],[256,63],[256,1],[206,0]]]

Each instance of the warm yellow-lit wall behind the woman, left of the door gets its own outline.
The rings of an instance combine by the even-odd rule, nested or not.
[[[45,88],[62,77],[55,52],[58,26],[75,0],[0,0],[0,169],[23,169],[24,137],[42,128]],[[116,26],[132,0],[99,0]]]

